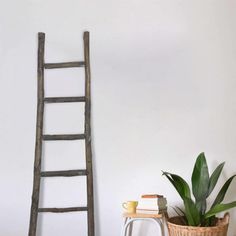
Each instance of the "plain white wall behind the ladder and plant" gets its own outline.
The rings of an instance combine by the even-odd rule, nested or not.
[[[28,231],[39,31],[46,33],[50,62],[81,59],[82,32],[91,32],[98,236],[120,235],[121,203],[142,193],[161,193],[170,205],[178,204],[180,199],[161,170],[190,180],[202,151],[210,170],[226,161],[222,183],[235,174],[236,1],[0,3],[0,235],[25,236]],[[46,92],[75,95],[82,78],[77,72],[68,70],[60,78],[57,72],[48,73]],[[70,105],[64,113],[57,106],[51,109],[55,113],[48,108],[48,130],[59,132],[60,122],[63,131],[77,129],[79,109],[75,112]],[[82,157],[76,143],[49,146],[45,168],[77,166],[76,157]],[[235,200],[235,184],[226,201]],[[41,204],[47,206],[78,204],[82,192],[72,179],[59,184],[48,180],[43,186]],[[80,218],[75,213],[45,214],[40,218],[41,235],[85,235]],[[234,236],[235,210],[231,218],[229,236]],[[137,235],[152,235],[153,230],[152,225],[142,225]]]

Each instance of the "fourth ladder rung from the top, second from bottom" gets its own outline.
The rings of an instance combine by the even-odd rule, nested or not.
[[[42,171],[41,177],[72,177],[87,175],[86,170],[59,170],[59,171]]]

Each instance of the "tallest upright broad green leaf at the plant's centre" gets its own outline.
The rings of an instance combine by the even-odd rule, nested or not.
[[[192,192],[197,202],[206,199],[209,186],[209,172],[204,153],[200,153],[192,173]]]

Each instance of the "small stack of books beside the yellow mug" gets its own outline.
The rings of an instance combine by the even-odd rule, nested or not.
[[[163,195],[145,194],[139,199],[137,209],[142,211],[164,211],[167,210],[167,200]]]

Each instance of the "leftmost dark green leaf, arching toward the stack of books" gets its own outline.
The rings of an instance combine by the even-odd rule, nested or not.
[[[191,198],[190,188],[188,183],[178,175],[163,172],[163,175],[173,184],[180,197],[184,200],[185,197]]]

